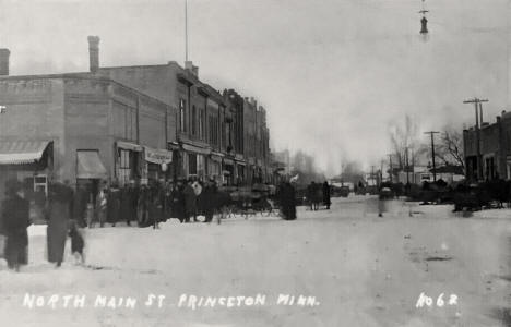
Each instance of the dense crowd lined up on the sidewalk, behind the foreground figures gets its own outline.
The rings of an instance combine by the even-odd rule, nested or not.
[[[126,221],[131,226],[153,226],[166,221],[169,217],[180,222],[198,221],[198,215],[205,216],[211,222],[216,207],[217,186],[213,179],[204,182],[198,179],[178,180],[176,183],[152,181],[148,185],[139,185],[133,180],[119,187],[117,183],[106,182],[91,199],[85,187],[78,187],[74,196],[74,216],[81,226],[99,227],[105,223]]]

